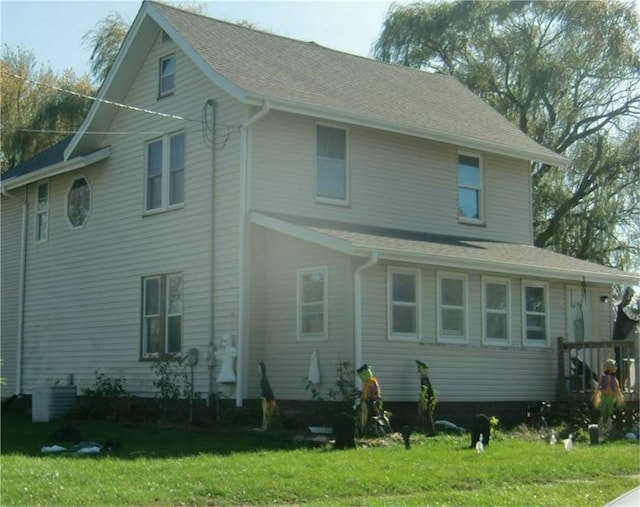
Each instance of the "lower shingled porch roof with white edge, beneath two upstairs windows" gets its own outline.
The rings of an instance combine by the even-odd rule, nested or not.
[[[268,213],[253,224],[347,255],[429,264],[443,268],[552,280],[636,285],[638,273],[576,259],[533,245],[388,229]]]

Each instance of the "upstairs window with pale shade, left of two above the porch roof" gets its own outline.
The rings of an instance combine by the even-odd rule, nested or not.
[[[316,127],[316,199],[325,202],[348,201],[347,131]]]

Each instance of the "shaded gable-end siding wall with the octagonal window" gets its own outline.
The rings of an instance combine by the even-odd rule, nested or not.
[[[176,54],[175,95],[157,100],[158,61],[171,52]],[[126,104],[195,121],[122,109],[112,122],[113,135],[103,140],[103,145],[112,147],[107,161],[51,179],[48,241],[33,243],[33,214],[29,217],[27,393],[39,384],[64,382],[69,373],[81,388],[90,387],[97,369],[111,378],[125,378],[129,392],[155,391],[152,382],[157,377],[151,363],[140,361],[141,279],[147,275],[183,273],[182,348],[200,352],[194,372],[197,392],[208,390],[206,354],[212,332],[216,343],[223,333],[235,332],[239,126],[245,110],[215,89],[173,43],[162,44],[160,37],[137,72]],[[208,99],[218,104],[215,168],[199,122]],[[184,208],[143,216],[145,142],[158,137],[156,132],[182,129],[186,132]],[[84,227],[72,230],[64,218],[65,195],[77,176],[85,177],[91,187],[91,213]],[[35,185],[29,193],[33,209]],[[219,322],[215,329],[214,315]]]

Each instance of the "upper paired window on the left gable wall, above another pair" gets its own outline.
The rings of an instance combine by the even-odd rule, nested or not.
[[[164,210],[184,204],[184,133],[147,143],[145,164],[145,210]]]

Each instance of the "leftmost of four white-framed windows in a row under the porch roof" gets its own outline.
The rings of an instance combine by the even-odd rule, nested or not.
[[[420,337],[420,270],[390,266],[387,271],[389,340]]]

